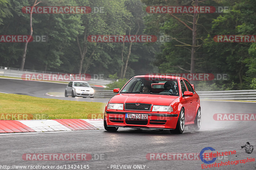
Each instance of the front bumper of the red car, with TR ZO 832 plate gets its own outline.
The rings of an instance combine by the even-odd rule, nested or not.
[[[125,118],[125,113],[147,114],[148,119]],[[179,112],[153,113],[136,111],[106,111],[107,126],[143,129],[175,129]]]

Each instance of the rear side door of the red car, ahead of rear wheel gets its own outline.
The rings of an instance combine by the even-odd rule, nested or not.
[[[193,87],[188,83],[187,80],[183,80],[185,85],[187,86],[187,89],[189,92],[193,92],[193,96],[189,96],[190,98],[190,104],[191,104],[191,107],[190,107],[190,115],[188,116],[188,121],[191,122],[191,121],[194,121],[195,118],[196,118],[196,108],[197,108],[197,101],[198,101],[198,98],[195,94],[195,91],[193,89]]]

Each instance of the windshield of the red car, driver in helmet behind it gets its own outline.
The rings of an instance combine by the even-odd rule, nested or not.
[[[179,96],[176,79],[148,80],[148,78],[132,78],[120,93],[147,93]]]

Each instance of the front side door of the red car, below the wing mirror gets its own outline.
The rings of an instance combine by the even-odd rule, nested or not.
[[[185,83],[183,82],[183,80],[180,80],[180,86],[181,86],[181,96],[182,96],[182,100],[181,100],[181,104],[184,106],[185,108],[185,122],[190,122],[189,120],[190,118],[190,112],[191,112],[191,103],[190,103],[190,96],[183,96],[183,93],[185,91],[188,91]]]

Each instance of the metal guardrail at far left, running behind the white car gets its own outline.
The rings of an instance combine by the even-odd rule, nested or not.
[[[22,74],[64,74],[64,73],[60,73],[60,72],[50,72],[50,71],[36,71],[36,70],[30,70],[30,71],[25,71],[23,70],[11,70],[8,68],[4,67],[0,67],[0,76],[8,76],[8,77],[17,77],[17,78],[21,78]],[[63,81],[63,82],[69,82],[69,81]],[[105,80],[105,79],[90,79],[90,80],[86,80],[86,82],[88,82],[89,84],[93,84],[93,85],[107,85],[111,82],[113,82],[113,80]]]

